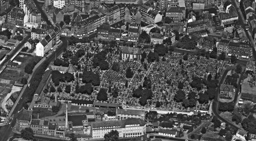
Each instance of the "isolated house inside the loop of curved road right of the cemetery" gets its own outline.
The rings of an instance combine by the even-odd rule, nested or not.
[[[221,99],[232,99],[235,89],[233,85],[221,84],[220,98]]]

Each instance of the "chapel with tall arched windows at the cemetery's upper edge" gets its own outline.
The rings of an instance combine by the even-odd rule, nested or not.
[[[141,51],[135,47],[122,47],[122,61],[138,61],[141,59]]]

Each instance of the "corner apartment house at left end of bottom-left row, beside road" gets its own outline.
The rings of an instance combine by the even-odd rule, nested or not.
[[[22,129],[29,127],[31,119],[32,111],[25,109],[19,111],[16,115],[17,130],[21,132]]]

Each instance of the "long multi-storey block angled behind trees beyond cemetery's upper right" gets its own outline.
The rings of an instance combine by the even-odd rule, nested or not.
[[[187,33],[207,29],[209,26],[209,23],[204,20],[192,21],[191,23],[187,23]]]

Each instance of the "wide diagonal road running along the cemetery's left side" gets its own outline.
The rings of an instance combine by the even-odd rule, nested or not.
[[[50,62],[52,62],[52,61],[55,60],[55,53],[56,53],[56,56],[58,57],[58,56],[60,56],[61,53],[63,52],[63,49],[64,49],[64,48],[67,48],[67,45],[68,45],[67,40],[65,40],[64,38],[61,38],[61,40],[62,40],[62,42],[63,42],[62,46],[60,46],[58,49],[56,49],[56,51],[54,51],[53,53],[51,53],[51,55],[49,55],[48,58],[46,58],[44,61],[42,61],[41,64],[44,64],[44,63],[50,64]],[[32,79],[34,79],[35,72],[40,71],[39,68],[40,68],[40,67],[37,67],[37,68],[34,69],[33,73],[31,74],[31,78],[32,78]],[[31,82],[31,80],[30,80],[29,82]],[[29,83],[29,82],[28,82],[28,83]],[[20,93],[20,94],[23,95],[23,93]],[[12,113],[13,115],[16,115],[17,112],[22,109],[22,105],[23,105],[24,102],[25,102],[24,99],[20,99],[20,101],[18,101],[17,106],[14,107],[14,111],[13,111],[13,113]],[[16,123],[16,117],[14,116],[14,118],[13,118],[13,120],[12,120],[12,122],[11,122],[10,125],[5,125],[5,126],[3,126],[3,127],[1,128],[1,130],[0,130],[0,135],[1,135],[0,141],[6,141],[6,140],[11,136],[11,134],[13,134],[13,133],[12,133],[12,127],[15,126],[15,123]]]

